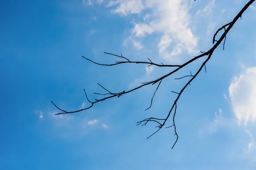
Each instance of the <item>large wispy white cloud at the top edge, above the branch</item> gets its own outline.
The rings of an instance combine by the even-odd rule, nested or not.
[[[159,55],[169,62],[180,61],[177,55],[183,52],[198,52],[195,50],[198,38],[189,28],[186,0],[111,0],[108,7],[113,7],[112,12],[122,16],[139,14],[143,18],[143,22],[133,22],[132,37],[162,34],[158,43]]]

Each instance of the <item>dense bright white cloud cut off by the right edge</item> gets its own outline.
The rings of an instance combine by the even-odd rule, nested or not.
[[[256,120],[256,67],[247,68],[239,77],[233,78],[229,96],[239,125]]]

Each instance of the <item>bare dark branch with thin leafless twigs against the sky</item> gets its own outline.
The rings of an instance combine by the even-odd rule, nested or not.
[[[169,126],[169,127],[174,127],[174,130],[175,130],[175,135],[176,135],[176,141],[175,143],[173,144],[172,148],[175,146],[175,144],[177,143],[177,140],[179,138],[178,134],[177,134],[177,131],[176,131],[176,125],[175,125],[175,115],[176,115],[176,109],[177,109],[177,101],[178,99],[180,98],[181,94],[183,93],[183,91],[186,89],[186,87],[188,85],[191,84],[191,82],[195,79],[195,77],[198,76],[198,74],[201,72],[201,70],[204,68],[205,69],[205,72],[206,72],[206,63],[209,61],[209,59],[212,57],[212,54],[214,52],[214,50],[218,47],[218,45],[221,44],[221,42],[224,40],[223,42],[223,50],[224,50],[224,45],[225,45],[225,41],[226,41],[226,35],[227,33],[230,31],[230,29],[233,27],[233,25],[236,23],[236,21],[239,19],[239,17],[242,16],[242,14],[244,13],[244,11],[254,2],[255,0],[250,0],[242,9],[241,11],[236,15],[236,17],[233,19],[233,21],[231,21],[230,23],[227,23],[226,25],[222,26],[221,28],[219,28],[216,33],[214,34],[213,36],[213,40],[212,40],[212,43],[214,44],[212,46],[212,48],[209,49],[209,51],[207,52],[201,52],[202,54],[190,59],[189,61],[183,63],[182,65],[164,65],[163,63],[161,64],[157,64],[157,63],[154,63],[152,62],[149,58],[149,62],[142,62],[142,61],[131,61],[129,60],[128,58],[126,57],[123,57],[122,54],[121,55],[115,55],[115,54],[111,54],[111,53],[106,53],[105,54],[109,54],[109,55],[113,55],[113,56],[116,56],[116,57],[119,57],[121,59],[125,59],[125,61],[118,61],[116,63],[113,63],[113,64],[100,64],[100,63],[97,63],[97,62],[94,62],[86,57],[83,57],[84,59],[87,59],[88,61],[90,62],[93,62],[94,64],[97,64],[97,65],[103,65],[103,66],[113,66],[113,65],[121,65],[121,64],[125,64],[125,63],[135,63],[135,64],[148,64],[148,66],[151,66],[151,65],[155,65],[157,67],[172,67],[172,68],[175,68],[173,71],[171,71],[170,73],[162,76],[162,77],[159,77],[158,79],[155,79],[153,81],[150,81],[150,82],[145,82],[143,83],[142,85],[140,86],[137,86],[136,88],[133,88],[129,91],[122,91],[122,92],[118,92],[118,93],[113,93],[109,90],[107,90],[106,88],[104,88],[102,85],[100,85],[98,83],[98,85],[103,88],[106,93],[105,94],[100,94],[100,93],[94,93],[94,94],[98,94],[100,96],[105,96],[101,99],[94,99],[94,101],[90,101],[88,99],[88,96],[84,90],[84,94],[86,96],[86,99],[88,102],[90,102],[90,106],[87,107],[87,108],[84,108],[84,109],[80,109],[80,110],[76,110],[76,111],[64,111],[63,109],[60,109],[57,107],[57,105],[55,105],[53,102],[52,104],[55,105],[56,108],[58,108],[60,111],[62,111],[61,113],[58,113],[56,115],[60,115],[60,114],[67,114],[67,113],[77,113],[77,112],[80,112],[80,111],[85,111],[91,107],[93,107],[94,104],[98,103],[98,102],[103,102],[104,100],[106,99],[110,99],[110,98],[113,98],[113,97],[120,97],[124,94],[128,94],[132,91],[136,91],[140,88],[143,88],[144,86],[147,86],[147,85],[154,85],[156,84],[157,82],[159,82],[156,90],[154,91],[154,95],[152,96],[152,99],[151,99],[151,104],[150,106],[146,109],[148,110],[149,108],[151,108],[151,105],[152,105],[152,102],[153,102],[153,98],[157,92],[157,89],[160,87],[160,84],[162,82],[163,79],[165,79],[166,77],[169,77],[170,75],[176,73],[177,71],[179,71],[181,68],[185,67],[186,65],[189,65],[190,63],[194,62],[195,60],[201,58],[201,57],[204,57],[204,56],[208,56],[204,62],[201,64],[200,68],[198,69],[198,71],[192,75],[192,73],[190,72],[190,75],[187,75],[187,76],[183,76],[183,77],[180,77],[180,78],[177,78],[177,79],[183,79],[185,77],[191,77],[191,79],[189,79],[189,81],[183,86],[183,88],[180,90],[180,92],[175,92],[175,91],[172,91],[173,93],[177,94],[177,97],[172,105],[172,108],[170,109],[169,113],[167,114],[167,116],[164,118],[164,119],[158,119],[158,118],[154,118],[154,117],[150,117],[150,118],[147,118],[147,119],[144,119],[140,122],[137,122],[137,125],[147,125],[148,122],[155,122],[157,123],[157,130],[151,134],[149,137],[151,137],[152,135],[154,135],[155,133],[157,133],[162,127],[164,127],[164,125],[166,124],[166,121],[169,119],[169,116],[171,115],[172,111],[174,111],[174,114],[173,114],[173,125]],[[227,27],[227,28],[226,28]],[[218,39],[218,40],[215,40],[216,38],[216,35],[219,33],[219,31],[223,30],[224,29],[224,33],[221,35],[221,37]],[[166,128],[169,128],[169,127],[166,127]],[[148,137],[148,138],[149,138]],[[147,138],[147,139],[148,139]]]

